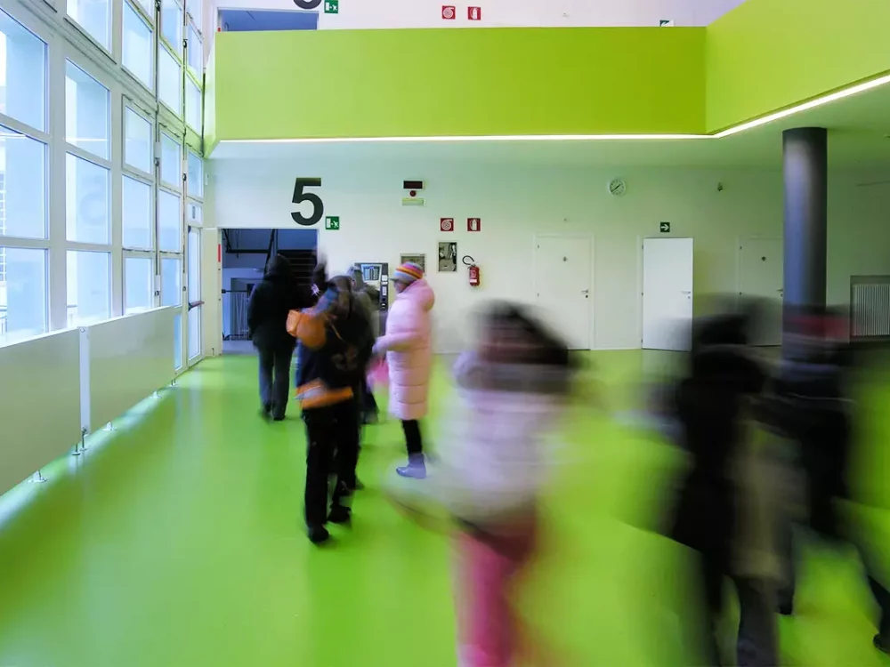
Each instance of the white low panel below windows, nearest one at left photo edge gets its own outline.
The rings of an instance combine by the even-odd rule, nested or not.
[[[0,494],[80,440],[80,333],[0,347]]]

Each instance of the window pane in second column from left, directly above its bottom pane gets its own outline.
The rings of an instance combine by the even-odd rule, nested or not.
[[[65,156],[65,229],[69,241],[111,242],[110,177],[105,167],[70,153]]]

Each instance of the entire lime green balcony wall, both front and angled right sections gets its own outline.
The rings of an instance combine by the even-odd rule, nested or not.
[[[708,28],[219,33],[218,141],[716,133],[890,71],[890,0],[748,0]]]

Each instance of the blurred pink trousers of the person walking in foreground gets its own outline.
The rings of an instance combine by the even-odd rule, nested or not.
[[[457,538],[460,667],[510,667],[522,641],[514,589],[535,551],[534,519],[498,535]]]

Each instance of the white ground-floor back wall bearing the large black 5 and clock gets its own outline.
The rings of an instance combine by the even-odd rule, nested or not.
[[[695,239],[696,292],[737,291],[740,237],[781,237],[781,173],[683,168],[603,170],[581,167],[497,165],[303,165],[211,161],[215,224],[220,227],[293,226],[290,213],[296,176],[321,176],[328,215],[340,231],[320,231],[320,250],[333,270],[353,261],[399,261],[400,253],[426,253],[436,291],[439,350],[463,340],[468,309],[487,298],[533,297],[535,234],[590,234],[594,239],[596,349],[640,346],[640,247],[672,234]],[[303,173],[304,172],[304,173]],[[310,173],[311,172],[311,173]],[[627,179],[627,196],[612,197],[608,181]],[[403,207],[401,181],[426,180],[424,208]],[[890,187],[857,187],[874,174],[836,174],[831,179],[829,301],[849,299],[853,274],[890,273],[885,242]],[[717,183],[724,184],[722,192]],[[303,213],[308,213],[304,211]],[[457,219],[457,232],[439,232],[439,219]],[[467,217],[481,217],[481,233],[465,231]],[[437,243],[456,240],[460,255],[479,263],[482,287],[467,285],[465,269],[435,271]]]

